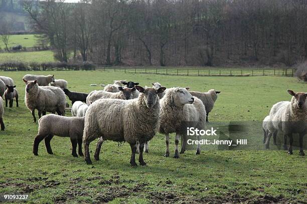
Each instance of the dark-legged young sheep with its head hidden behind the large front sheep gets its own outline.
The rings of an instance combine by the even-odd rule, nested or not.
[[[45,139],[47,152],[53,154],[50,140],[54,135],[60,137],[70,137],[72,144],[72,155],[78,157],[76,148],[78,143],[79,156],[82,152],[82,136],[84,128],[84,117],[65,117],[55,114],[48,114],[39,119],[38,134],[34,139],[33,154],[38,155],[39,143]]]

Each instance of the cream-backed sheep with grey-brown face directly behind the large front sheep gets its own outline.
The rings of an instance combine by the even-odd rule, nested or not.
[[[112,98],[112,99],[124,99],[124,100],[129,100],[136,98],[135,95],[133,95],[133,92],[136,91],[135,87],[133,88],[122,88],[121,86],[118,87],[120,92],[112,93],[112,92],[106,92],[106,91],[92,91],[91,93],[88,94],[88,97],[86,98],[86,104],[89,104],[89,101],[97,101],[98,99],[103,99],[103,98]]]

